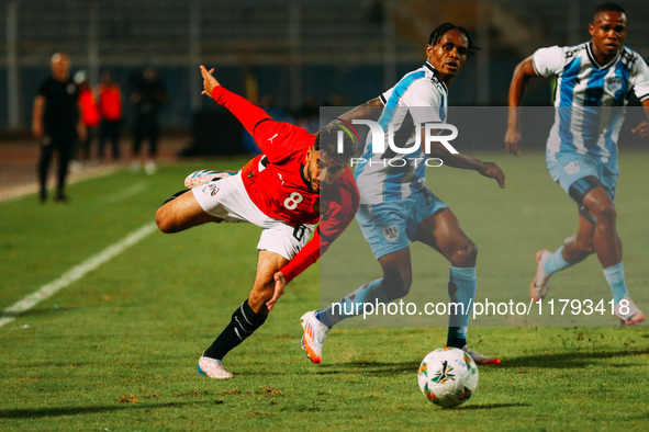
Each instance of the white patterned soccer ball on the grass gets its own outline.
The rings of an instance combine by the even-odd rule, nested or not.
[[[422,393],[440,407],[465,403],[478,387],[473,359],[452,346],[439,348],[424,357],[417,374]]]

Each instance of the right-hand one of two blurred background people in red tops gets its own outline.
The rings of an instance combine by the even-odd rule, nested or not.
[[[120,128],[122,127],[122,91],[113,81],[111,72],[105,71],[99,83],[99,158],[104,157],[104,145],[111,141],[113,160],[120,160]]]

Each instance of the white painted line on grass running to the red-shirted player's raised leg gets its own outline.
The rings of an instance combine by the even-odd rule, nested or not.
[[[15,318],[36,306],[38,303],[52,297],[54,294],[58,293],[60,289],[67,287],[68,285],[79,281],[89,272],[93,271],[94,269],[99,268],[101,264],[105,263],[107,261],[111,260],[113,257],[119,255],[124,250],[128,249],[133,245],[137,243],[139,240],[145,238],[146,236],[150,235],[156,230],[155,224],[146,224],[143,227],[136,229],[135,231],[131,232],[122,240],[113,243],[102,250],[101,252],[97,253],[93,257],[90,257],[82,263],[75,265],[67,272],[65,272],[59,278],[53,281],[46,285],[43,285],[38,291],[30,294],[22,300],[18,302],[16,304],[8,307],[2,311],[0,315],[0,327],[5,326]]]

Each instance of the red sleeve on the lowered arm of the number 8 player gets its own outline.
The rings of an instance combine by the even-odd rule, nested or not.
[[[358,189],[348,168],[345,169],[333,187],[336,189],[324,193],[327,201],[321,202],[321,206],[325,205],[326,207],[322,212],[321,221],[313,238],[280,270],[284,274],[287,283],[316,262],[334,240],[347,229],[358,212],[360,202]]]

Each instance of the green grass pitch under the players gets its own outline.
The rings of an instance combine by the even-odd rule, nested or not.
[[[534,252],[572,232],[574,204],[540,154],[480,156],[503,167],[506,190],[446,168],[428,171],[428,183],[479,247],[479,297],[525,299]],[[186,162],[155,177],[122,171],[71,185],[69,205],[42,206],[33,195],[0,203],[0,308],[150,223],[188,172],[244,161]],[[617,200],[628,285],[646,311],[647,162],[646,152],[623,151]],[[444,328],[338,328],[324,363],[306,360],[299,318],[318,304],[317,269],[290,284],[267,323],[225,359],[234,379],[199,376],[202,350],[247,295],[257,239],[247,225],[155,232],[1,327],[0,429],[646,430],[647,327],[472,328],[471,345],[503,364],[480,367],[472,399],[441,410],[419,393],[416,371],[445,343]],[[434,268],[444,298],[447,264],[418,246],[413,255],[415,284]],[[594,257],[552,286],[609,295]]]

